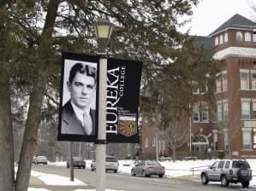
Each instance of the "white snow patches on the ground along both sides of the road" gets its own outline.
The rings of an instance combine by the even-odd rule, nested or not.
[[[212,165],[214,159],[205,160],[177,160],[176,162],[165,161],[160,162],[164,165],[165,177],[181,177],[181,176],[191,176],[198,175],[202,169],[207,168],[207,166]],[[256,159],[247,159],[249,165],[253,170],[253,180],[250,182],[252,187],[256,188]],[[92,160],[86,160],[86,169],[90,169]],[[49,163],[49,165],[66,166],[66,162],[56,162]],[[118,172],[130,174],[134,162],[132,160],[119,160]],[[191,171],[192,168],[194,173]],[[52,174],[45,174],[41,172],[32,171],[33,177],[38,177],[41,181],[48,185],[86,185],[85,182],[80,182],[80,180],[75,179],[74,182],[69,181],[69,177],[61,177]],[[114,191],[107,189],[108,191]],[[49,191],[44,188],[29,188],[28,191]],[[95,191],[95,189],[76,189],[74,191]]]

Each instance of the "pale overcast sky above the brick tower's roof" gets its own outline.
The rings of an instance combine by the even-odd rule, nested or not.
[[[199,0],[199,5],[193,8],[192,21],[184,30],[191,27],[190,34],[208,36],[234,14],[256,19],[256,13],[251,9],[253,4],[256,6],[256,0]]]

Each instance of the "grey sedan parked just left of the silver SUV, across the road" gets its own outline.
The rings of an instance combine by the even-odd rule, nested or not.
[[[141,161],[131,170],[132,176],[141,175],[143,177],[151,177],[152,175],[158,175],[158,177],[164,177],[164,173],[164,166],[155,160]]]

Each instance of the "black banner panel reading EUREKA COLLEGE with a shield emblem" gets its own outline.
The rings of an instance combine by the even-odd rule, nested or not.
[[[107,142],[139,143],[141,61],[108,59]]]

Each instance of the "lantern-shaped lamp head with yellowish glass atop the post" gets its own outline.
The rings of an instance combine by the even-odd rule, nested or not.
[[[95,22],[94,26],[98,40],[98,53],[105,54],[107,44],[109,43],[110,36],[114,28],[114,24],[110,23],[109,20],[100,18]]]

